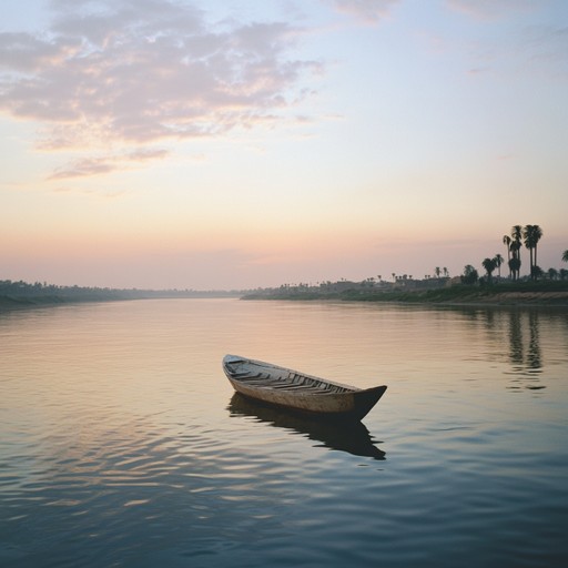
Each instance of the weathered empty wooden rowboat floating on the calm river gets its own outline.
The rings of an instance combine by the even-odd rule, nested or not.
[[[329,418],[361,420],[386,390],[386,386],[363,389],[333,383],[236,355],[225,355],[223,371],[244,396]]]

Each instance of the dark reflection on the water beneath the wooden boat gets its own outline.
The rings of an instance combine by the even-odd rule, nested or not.
[[[354,456],[385,459],[385,453],[372,440],[365,425],[355,420],[326,420],[270,406],[235,393],[229,403],[231,416],[250,416],[278,428],[294,430],[308,439],[322,443],[323,447],[347,452]]]

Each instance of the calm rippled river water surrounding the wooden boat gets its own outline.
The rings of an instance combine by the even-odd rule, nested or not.
[[[352,427],[226,353],[367,387]],[[0,314],[0,566],[556,567],[568,312],[170,300]]]

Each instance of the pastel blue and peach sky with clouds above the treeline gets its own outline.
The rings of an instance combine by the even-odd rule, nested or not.
[[[0,280],[567,267],[567,101],[566,0],[3,0]]]

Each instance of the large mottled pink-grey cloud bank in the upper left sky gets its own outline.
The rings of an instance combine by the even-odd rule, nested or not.
[[[290,57],[298,30],[283,21],[212,24],[173,0],[50,7],[43,32],[0,33],[0,112],[43,124],[43,150],[136,148],[294,120],[301,79],[322,68]]]

